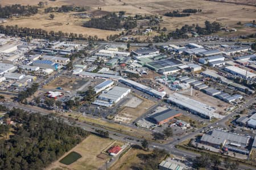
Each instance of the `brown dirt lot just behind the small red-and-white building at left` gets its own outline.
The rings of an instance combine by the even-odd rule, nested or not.
[[[64,90],[76,90],[79,89],[85,83],[86,80],[60,76],[46,84],[43,88],[51,90],[57,87],[62,87]]]

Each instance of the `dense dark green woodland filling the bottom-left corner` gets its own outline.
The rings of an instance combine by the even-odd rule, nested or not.
[[[0,140],[0,169],[44,169],[89,135],[63,120],[13,109],[5,115],[16,122],[9,139]],[[0,126],[0,128],[8,128]],[[3,130],[0,130],[3,131]]]

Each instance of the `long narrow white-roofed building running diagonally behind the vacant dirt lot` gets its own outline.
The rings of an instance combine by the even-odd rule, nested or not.
[[[153,88],[144,86],[143,84],[140,84],[137,82],[134,82],[133,80],[120,78],[119,82],[124,83],[128,86],[131,86],[139,91],[145,92],[146,94],[154,96],[158,99],[163,99],[163,97],[166,95],[164,92],[159,92],[157,90],[154,90]]]

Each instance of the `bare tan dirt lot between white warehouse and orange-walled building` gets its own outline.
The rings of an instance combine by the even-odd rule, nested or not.
[[[115,117],[114,121],[124,122],[126,124],[134,121],[139,116],[142,116],[150,107],[155,105],[154,101],[139,97],[143,102],[136,108],[124,107]]]

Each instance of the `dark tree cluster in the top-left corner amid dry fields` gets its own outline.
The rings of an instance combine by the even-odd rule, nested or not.
[[[0,5],[0,18],[12,18],[13,14],[19,14],[21,16],[30,16],[38,13],[38,7],[30,5],[10,5],[2,7]]]

